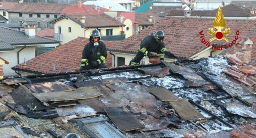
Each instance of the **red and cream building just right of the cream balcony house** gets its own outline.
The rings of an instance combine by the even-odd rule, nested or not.
[[[134,34],[134,21],[135,15],[134,12],[115,12],[115,11],[108,11],[104,12],[104,14],[114,18],[125,26],[122,26],[122,33],[125,34],[125,38],[128,38]]]

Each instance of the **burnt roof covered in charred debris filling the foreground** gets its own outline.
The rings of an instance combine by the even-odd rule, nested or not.
[[[233,57],[5,78],[0,135],[256,137],[255,84]]]

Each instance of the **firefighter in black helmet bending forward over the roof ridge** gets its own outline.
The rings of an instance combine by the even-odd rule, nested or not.
[[[146,36],[141,41],[138,48],[138,53],[135,56],[135,58],[130,61],[129,65],[139,65],[140,60],[144,56],[151,58],[152,57],[151,52],[157,53],[157,55],[160,57],[160,60],[164,60],[165,55],[169,58],[177,58],[165,48],[164,32],[161,30],[158,30],[153,34]]]

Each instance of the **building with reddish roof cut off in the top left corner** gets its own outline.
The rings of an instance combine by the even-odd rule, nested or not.
[[[2,2],[0,1],[0,22],[3,23],[3,17],[5,18],[4,20],[6,21],[5,23],[9,23],[9,13],[8,10],[15,7],[18,3],[14,2]],[[1,17],[2,16],[2,17]]]

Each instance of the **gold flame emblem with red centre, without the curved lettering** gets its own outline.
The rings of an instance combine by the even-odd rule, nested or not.
[[[216,29],[216,31],[214,31],[213,28],[209,28],[208,29],[208,34],[213,36],[213,38],[211,38],[209,41],[213,41],[214,39],[216,40],[226,40],[227,42],[229,41],[229,39],[227,39],[225,36],[228,36],[231,31],[230,28],[226,28],[224,31],[222,31],[222,29],[224,29],[226,27],[226,22],[224,20],[224,16],[222,14],[222,9],[221,6],[218,7],[218,11],[216,13],[216,17],[212,23],[213,27]]]

